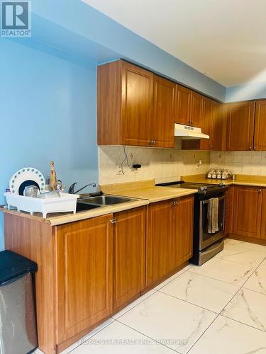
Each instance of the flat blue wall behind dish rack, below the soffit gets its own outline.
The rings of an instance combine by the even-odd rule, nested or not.
[[[33,166],[47,176],[52,159],[65,184],[97,182],[96,66],[5,39],[0,48],[0,204],[14,172]]]

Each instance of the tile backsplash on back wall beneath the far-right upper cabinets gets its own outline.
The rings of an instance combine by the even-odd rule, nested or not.
[[[232,173],[266,176],[266,152],[211,152],[210,167]]]

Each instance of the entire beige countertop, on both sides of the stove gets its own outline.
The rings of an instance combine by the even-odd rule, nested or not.
[[[181,179],[186,182],[193,183],[217,184],[221,182],[221,180],[208,179],[205,175],[182,176]],[[266,176],[237,175],[235,181],[223,180],[222,182],[226,185],[250,185],[266,188]],[[156,187],[154,180],[101,185],[101,190],[103,190],[106,194],[123,195],[126,197],[135,198],[135,200],[132,202],[123,202],[118,205],[98,207],[93,210],[77,212],[76,214],[58,213],[46,219],[44,219],[39,213],[35,213],[35,215],[32,216],[27,212],[6,210],[4,207],[0,207],[0,211],[18,215],[18,217],[47,222],[51,226],[56,226],[60,224],[67,224],[68,222],[76,222],[79,220],[90,219],[92,217],[99,217],[101,215],[113,214],[115,212],[122,212],[123,210],[130,210],[135,207],[148,205],[151,202],[160,202],[162,200],[170,200],[173,198],[183,197],[185,195],[192,195],[197,191],[194,189],[185,188]]]

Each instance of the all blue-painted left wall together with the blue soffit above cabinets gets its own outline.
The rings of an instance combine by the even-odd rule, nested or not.
[[[32,1],[32,37],[0,38],[0,203],[23,166],[98,181],[96,65],[124,58],[225,99],[226,89],[80,0]],[[94,63],[94,64],[92,64]],[[0,214],[0,249],[4,246]]]

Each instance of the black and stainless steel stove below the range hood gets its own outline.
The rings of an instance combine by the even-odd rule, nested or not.
[[[177,181],[160,183],[159,186],[171,188],[197,189],[194,194],[194,240],[191,263],[201,265],[223,250],[225,198],[228,187],[223,183],[188,183]],[[209,232],[209,202],[218,198],[218,230]]]

